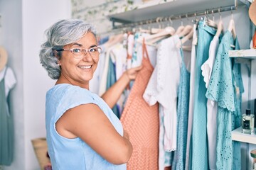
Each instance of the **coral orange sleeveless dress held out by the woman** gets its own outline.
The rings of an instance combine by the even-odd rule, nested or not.
[[[124,130],[129,133],[129,140],[133,147],[132,157],[127,162],[127,169],[154,170],[158,169],[158,103],[154,106],[149,106],[143,98],[154,67],[149,61],[144,43],[142,51],[143,68],[134,81],[120,120]]]

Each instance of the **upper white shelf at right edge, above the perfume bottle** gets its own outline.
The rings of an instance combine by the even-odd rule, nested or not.
[[[256,49],[248,50],[230,50],[228,51],[229,57],[240,57],[245,59],[256,59]]]

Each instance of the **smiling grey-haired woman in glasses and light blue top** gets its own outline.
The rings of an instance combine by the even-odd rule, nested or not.
[[[62,20],[46,30],[40,60],[57,79],[46,94],[46,139],[53,169],[126,169],[129,135],[110,108],[142,67],[129,69],[100,98],[89,91],[101,48],[95,29]]]

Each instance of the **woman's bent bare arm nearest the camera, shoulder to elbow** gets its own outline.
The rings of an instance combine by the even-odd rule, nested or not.
[[[112,164],[124,164],[132,155],[127,133],[119,135],[105,113],[92,103],[66,111],[56,123],[56,130],[63,137],[80,137]]]

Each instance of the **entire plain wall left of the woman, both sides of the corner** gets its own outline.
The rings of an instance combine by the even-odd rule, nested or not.
[[[40,169],[31,140],[45,137],[45,96],[55,81],[39,62],[43,33],[55,21],[71,18],[70,0],[0,0],[0,45],[9,53],[8,65],[16,74],[11,91],[14,113],[14,162],[4,169]]]

